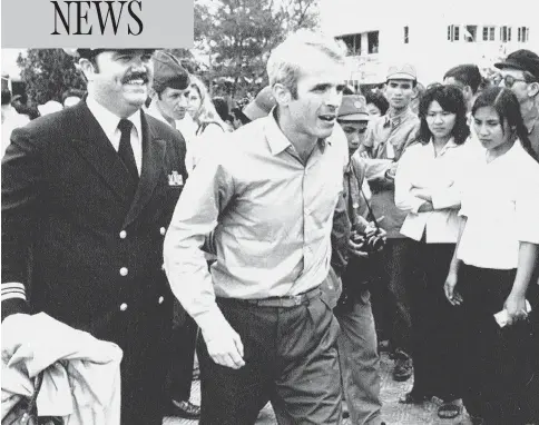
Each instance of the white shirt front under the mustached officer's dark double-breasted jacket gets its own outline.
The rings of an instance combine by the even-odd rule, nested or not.
[[[104,106],[99,105],[94,98],[89,96],[86,99],[86,105],[88,105],[88,109],[94,115],[94,117],[96,117],[97,122],[99,122],[99,126],[101,126],[102,131],[112,144],[115,150],[118,151],[121,137],[121,131],[118,128],[120,118],[110,112]],[[127,119],[133,122],[131,148],[133,154],[135,155],[135,162],[137,164],[138,174],[140,175],[140,170],[143,169],[143,123],[140,120],[140,110],[137,110]]]

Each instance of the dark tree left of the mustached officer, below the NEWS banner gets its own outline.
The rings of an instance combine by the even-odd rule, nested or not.
[[[31,105],[61,102],[61,95],[68,89],[86,90],[86,81],[75,68],[74,58],[62,49],[29,49],[26,57],[19,55],[17,65]]]

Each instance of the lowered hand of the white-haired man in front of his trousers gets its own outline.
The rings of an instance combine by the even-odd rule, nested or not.
[[[213,325],[212,333],[203,332],[203,336],[208,354],[216,364],[233,369],[245,366],[242,339],[228,323]]]

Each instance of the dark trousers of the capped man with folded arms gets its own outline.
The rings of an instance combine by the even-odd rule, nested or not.
[[[380,255],[373,257],[373,313],[393,348],[411,354],[410,295],[404,270],[410,257],[408,238],[388,239]]]

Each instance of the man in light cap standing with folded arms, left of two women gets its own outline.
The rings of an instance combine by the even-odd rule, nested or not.
[[[388,316],[392,322],[389,337],[395,353],[395,380],[409,379],[413,370],[410,305],[402,278],[408,244],[399,231],[405,214],[395,206],[394,176],[401,155],[419,130],[419,118],[410,108],[415,85],[416,72],[411,65],[390,67],[385,85],[390,109],[385,116],[371,120],[364,144],[370,157],[366,178],[372,189],[372,209],[375,217],[384,217],[380,225],[388,231],[388,244],[379,263],[389,293],[384,294],[389,299],[382,298],[382,303],[389,304]]]

